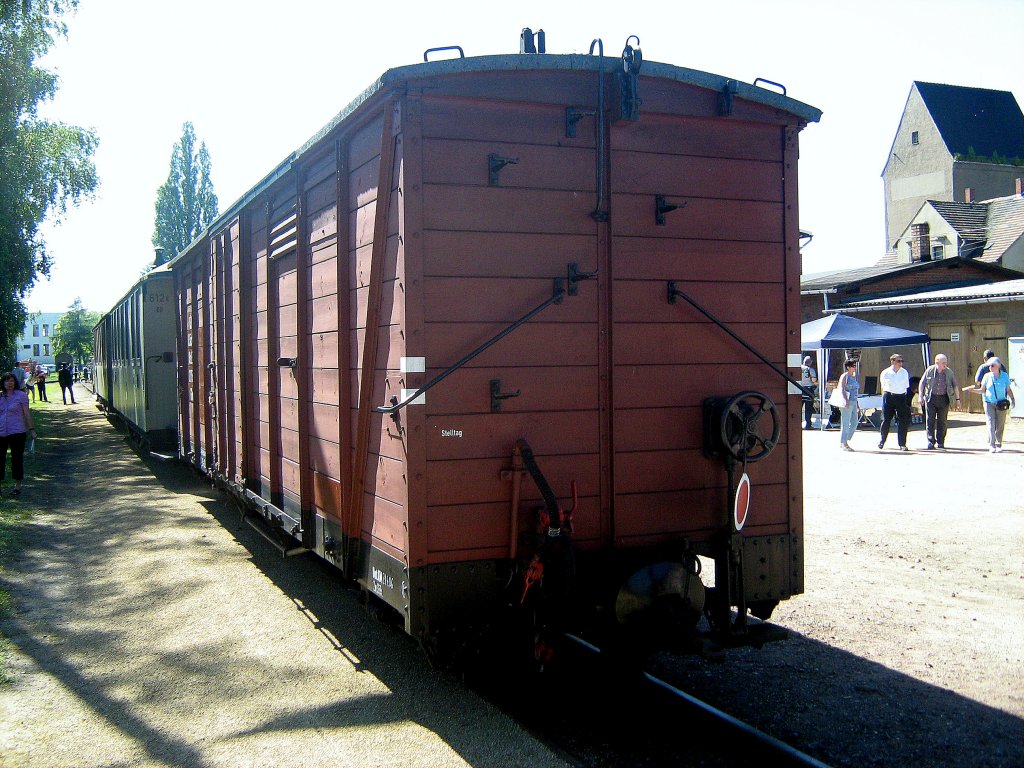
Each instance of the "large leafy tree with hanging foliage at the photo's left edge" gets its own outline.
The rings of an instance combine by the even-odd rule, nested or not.
[[[13,348],[24,298],[50,257],[40,224],[96,187],[93,131],[42,120],[57,79],[37,61],[67,33],[78,0],[0,0],[0,349]]]

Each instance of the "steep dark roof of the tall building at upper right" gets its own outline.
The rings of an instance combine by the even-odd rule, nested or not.
[[[1024,160],[1024,114],[1013,93],[920,81],[914,85],[951,154]]]

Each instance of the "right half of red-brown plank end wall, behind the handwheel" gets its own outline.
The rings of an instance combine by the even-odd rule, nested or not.
[[[783,418],[787,407],[781,379],[687,302],[670,304],[667,294],[675,281],[784,367],[782,130],[738,116],[709,119],[717,104],[690,117],[701,114],[705,94],[644,86],[644,119],[611,131],[614,526],[616,542],[626,545],[710,531],[726,519],[724,469],[702,457],[709,391],[764,391]],[[658,104],[673,114],[650,114]],[[660,225],[655,196],[677,206]],[[750,529],[785,532],[784,455],[776,452],[748,472],[764,512],[752,516]]]

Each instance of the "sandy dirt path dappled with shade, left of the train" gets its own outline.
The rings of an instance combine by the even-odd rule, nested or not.
[[[0,766],[564,765],[78,399],[28,468],[49,512],[0,572]]]

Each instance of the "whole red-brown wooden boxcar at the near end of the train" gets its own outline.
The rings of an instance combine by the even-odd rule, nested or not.
[[[388,71],[172,263],[182,455],[428,644],[699,615],[698,556],[741,630],[803,589],[818,117],[629,45]]]

